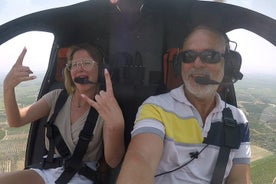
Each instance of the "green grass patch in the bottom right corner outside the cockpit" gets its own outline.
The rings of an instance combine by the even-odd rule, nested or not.
[[[251,162],[250,178],[252,184],[272,184],[276,178],[276,155]]]

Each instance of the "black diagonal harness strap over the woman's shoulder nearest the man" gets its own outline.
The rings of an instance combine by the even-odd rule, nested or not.
[[[65,161],[64,171],[56,180],[56,184],[68,183],[77,172],[83,167],[87,167],[82,164],[82,158],[86,153],[90,140],[93,138],[93,131],[96,126],[97,118],[98,112],[94,108],[90,108],[84,127],[79,134],[79,140],[74,153],[70,159]]]

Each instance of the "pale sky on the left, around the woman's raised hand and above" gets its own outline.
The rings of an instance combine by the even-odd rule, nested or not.
[[[0,0],[0,25],[33,12],[83,1],[86,0]],[[0,45],[0,77],[10,70],[24,47],[28,51],[23,64],[30,66],[32,71],[44,71],[52,43],[52,34],[29,32]]]

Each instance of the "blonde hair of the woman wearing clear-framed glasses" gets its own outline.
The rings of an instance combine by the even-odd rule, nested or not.
[[[103,64],[103,54],[97,47],[90,45],[88,43],[72,45],[67,51],[67,64],[70,64],[72,62],[74,54],[79,50],[86,50],[88,54],[98,63],[98,65]],[[67,68],[65,68],[64,70],[64,84],[65,89],[69,94],[72,94],[75,91],[76,86],[73,82],[70,71]]]

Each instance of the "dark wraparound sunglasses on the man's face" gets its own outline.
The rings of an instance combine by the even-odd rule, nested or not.
[[[224,54],[215,50],[204,50],[202,52],[187,50],[180,52],[179,57],[183,63],[193,63],[196,58],[199,57],[203,63],[214,64],[220,62],[221,57],[224,57]]]

